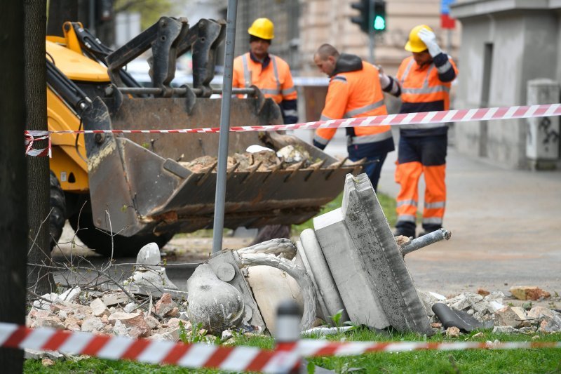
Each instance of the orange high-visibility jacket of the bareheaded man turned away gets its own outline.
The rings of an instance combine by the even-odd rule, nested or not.
[[[381,91],[378,69],[363,61],[363,69],[331,77],[321,120],[357,118],[388,114]],[[333,138],[337,128],[318,128],[313,140],[321,145]],[[390,126],[354,128],[349,144],[379,142],[391,138]]]

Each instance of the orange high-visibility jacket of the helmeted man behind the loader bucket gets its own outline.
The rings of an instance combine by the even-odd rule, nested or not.
[[[288,63],[276,55],[271,55],[271,62],[264,69],[260,62],[244,53],[234,59],[233,87],[250,87],[255,85],[265,98],[272,98],[277,104],[283,100],[295,100],[296,88],[290,74]]]

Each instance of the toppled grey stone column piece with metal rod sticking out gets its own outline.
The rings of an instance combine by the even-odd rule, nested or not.
[[[313,225],[296,246],[273,239],[212,255],[187,281],[191,323],[215,333],[257,326],[274,335],[276,306],[292,299],[304,311],[302,330],[342,313],[374,328],[433,333],[403,256],[450,233],[398,245],[365,174],[347,175],[342,207]]]

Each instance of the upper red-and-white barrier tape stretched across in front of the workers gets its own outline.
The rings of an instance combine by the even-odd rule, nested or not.
[[[561,115],[561,104],[528,105],[520,107],[493,107],[480,109],[454,109],[440,112],[419,112],[404,114],[386,114],[384,116],[369,116],[349,119],[332,119],[330,121],[313,121],[293,123],[290,125],[265,126],[231,126],[230,131],[243,133],[248,131],[285,131],[285,130],[313,130],[316,128],[345,128],[363,126],[402,126],[422,123],[449,123],[466,121],[491,121],[495,119],[520,119],[543,116]],[[53,134],[153,134],[153,133],[219,133],[219,127],[181,128],[169,130],[63,130],[43,131],[37,135]]]

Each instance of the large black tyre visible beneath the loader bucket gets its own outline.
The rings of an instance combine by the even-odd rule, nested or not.
[[[144,234],[134,236],[123,236],[97,229],[93,224],[90,202],[83,206],[81,213],[76,213],[68,218],[72,229],[79,239],[93,251],[107,257],[111,257],[111,241],[113,243],[112,255],[114,258],[136,256],[140,248],[148,243],[156,243],[159,248],[165,246],[173,237],[173,234]]]

